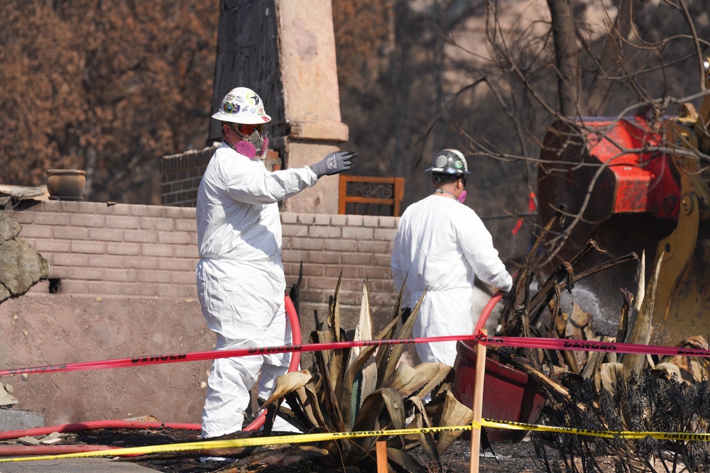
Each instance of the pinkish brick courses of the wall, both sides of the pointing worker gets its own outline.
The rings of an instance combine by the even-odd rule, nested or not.
[[[196,297],[195,208],[43,201],[13,213],[20,236],[48,260],[64,294]],[[300,312],[326,311],[342,272],[344,313],[356,313],[368,279],[373,310],[396,299],[390,255],[397,218],[282,213],[286,283],[302,263]],[[33,293],[48,293],[40,282]],[[349,310],[352,309],[352,310]],[[309,328],[312,328],[307,323]],[[346,322],[346,325],[348,323]]]

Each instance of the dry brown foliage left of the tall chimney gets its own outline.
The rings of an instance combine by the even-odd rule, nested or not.
[[[218,2],[11,0],[0,15],[2,180],[80,168],[90,200],[159,203],[158,157],[207,135]]]

